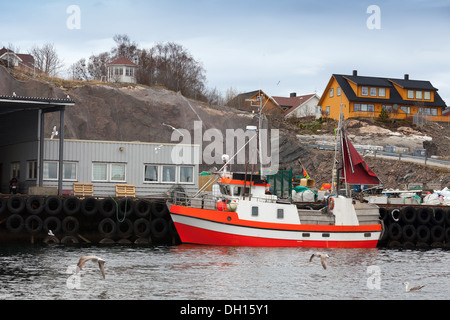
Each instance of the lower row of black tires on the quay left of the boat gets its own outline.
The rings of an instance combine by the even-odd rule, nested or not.
[[[24,218],[20,214],[12,214],[6,220],[6,228],[9,232],[20,233],[26,231],[31,235],[40,233],[76,235],[80,231],[80,222],[77,217],[67,216],[59,219],[56,216],[48,216],[42,219],[38,215],[29,215]],[[176,230],[172,221],[164,218],[138,218],[131,220],[125,218],[121,221],[115,221],[111,218],[103,218],[98,224],[98,232],[103,238],[129,238],[136,236],[145,238],[151,236],[154,239],[164,239],[169,234],[174,235]]]

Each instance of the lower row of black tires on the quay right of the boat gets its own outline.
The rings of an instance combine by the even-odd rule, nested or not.
[[[391,223],[383,235],[382,240],[402,241],[411,243],[449,243],[450,227],[444,228],[440,225],[401,225],[397,222]]]

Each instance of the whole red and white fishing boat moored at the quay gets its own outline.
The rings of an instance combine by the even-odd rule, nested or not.
[[[261,110],[261,108],[260,108]],[[261,118],[260,118],[261,119]],[[341,118],[342,119],[342,118]],[[339,128],[341,128],[341,123]],[[319,210],[298,209],[290,201],[267,194],[260,175],[227,171],[229,157],[216,181],[219,196],[198,193],[174,196],[170,215],[182,243],[220,246],[374,248],[382,233],[379,208],[349,197],[349,184],[375,185],[379,179],[343,130],[338,130],[335,194]],[[339,156],[337,156],[339,152]],[[340,180],[346,196],[339,195]]]

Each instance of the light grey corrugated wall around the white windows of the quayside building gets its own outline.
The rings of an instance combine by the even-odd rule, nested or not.
[[[184,163],[180,162],[178,149],[182,148]],[[175,149],[175,150],[174,150]],[[59,140],[46,140],[44,161],[57,161]],[[195,163],[194,154],[199,152],[198,146],[175,145],[141,142],[111,142],[65,140],[64,161],[77,163],[77,181],[64,181],[64,190],[73,190],[74,182],[94,183],[95,196],[115,195],[116,184],[130,184],[136,187],[136,196],[153,197],[163,195],[172,187],[181,185],[187,192],[198,189],[199,168]],[[174,154],[174,155],[172,155]],[[126,181],[124,182],[95,182],[92,181],[92,164],[122,163],[126,164]],[[180,183],[145,183],[144,165],[192,165],[194,167],[194,181],[190,184]],[[57,186],[57,181],[44,180],[44,186]]]

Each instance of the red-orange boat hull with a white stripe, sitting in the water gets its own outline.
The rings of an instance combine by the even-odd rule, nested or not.
[[[374,248],[381,225],[330,226],[241,220],[235,212],[172,206],[182,243],[250,246]]]

